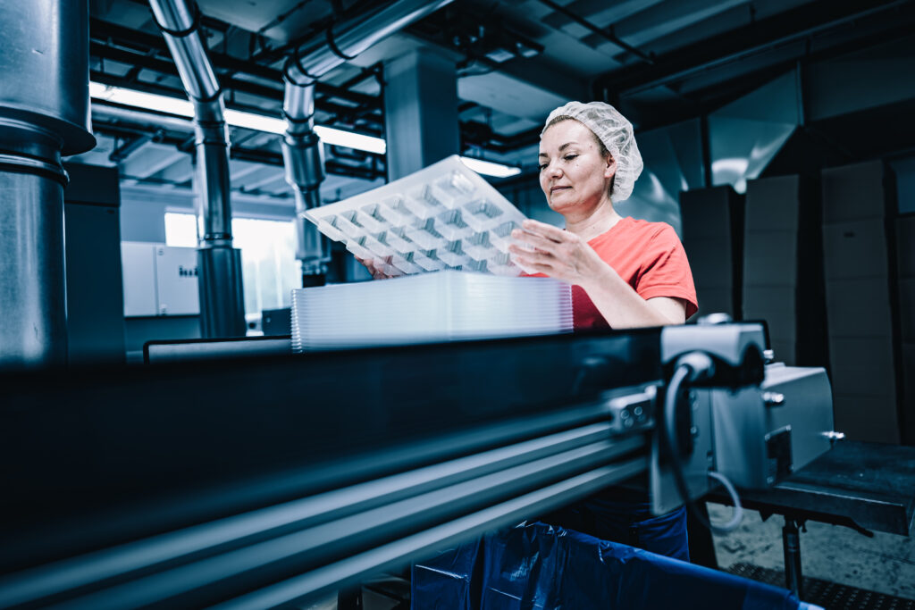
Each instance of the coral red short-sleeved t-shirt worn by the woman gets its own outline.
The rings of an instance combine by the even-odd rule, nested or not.
[[[626,217],[587,243],[641,298],[683,299],[687,319],[698,309],[686,251],[666,222]],[[572,310],[576,330],[609,327],[581,286],[572,286]]]

